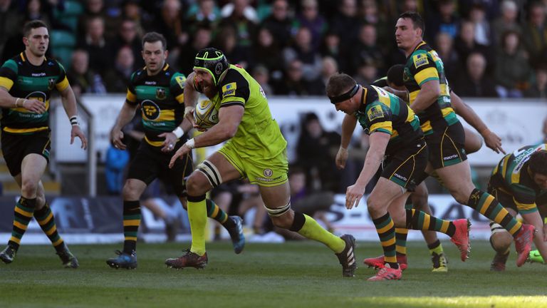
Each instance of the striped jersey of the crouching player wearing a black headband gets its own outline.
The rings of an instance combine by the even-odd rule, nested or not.
[[[363,86],[360,108],[355,117],[368,135],[374,132],[390,134],[386,155],[424,135],[414,111],[400,98],[377,86]]]

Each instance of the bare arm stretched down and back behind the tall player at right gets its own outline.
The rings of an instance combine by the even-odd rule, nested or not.
[[[469,125],[472,125],[473,128],[481,134],[487,147],[491,148],[491,150],[496,153],[501,152],[505,154],[504,148],[501,148],[501,138],[488,129],[488,126],[486,126],[481,118],[477,116],[473,108],[467,105],[467,103],[464,103],[462,98],[457,96],[454,91],[450,91],[450,101],[452,103],[452,108],[454,108],[457,115],[464,118]]]

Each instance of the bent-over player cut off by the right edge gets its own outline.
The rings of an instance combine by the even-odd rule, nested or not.
[[[539,254],[547,257],[547,227],[536,205],[547,201],[547,143],[527,145],[501,158],[488,183],[488,192],[524,222],[536,228],[533,242]],[[499,224],[491,222],[490,243],[496,255],[490,270],[503,271],[509,257],[511,235]]]

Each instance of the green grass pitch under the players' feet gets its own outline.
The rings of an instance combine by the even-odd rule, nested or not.
[[[374,274],[364,257],[380,255],[378,243],[359,242],[361,265],[343,278],[338,259],[316,242],[248,243],[234,255],[228,242],[207,245],[205,270],[172,270],[163,262],[187,243],[137,245],[137,270],[105,264],[121,245],[71,245],[78,270],[61,267],[51,246],[24,245],[11,265],[0,264],[0,307],[547,307],[547,267],[515,265],[490,272],[493,251],[472,242],[467,262],[444,242],[448,273],[430,272],[423,242],[412,242],[402,280],[367,282]]]

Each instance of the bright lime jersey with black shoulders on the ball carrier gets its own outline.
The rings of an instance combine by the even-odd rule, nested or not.
[[[283,153],[287,142],[271,116],[266,94],[254,78],[239,66],[230,65],[217,85],[215,108],[240,105],[245,108],[237,133],[228,140],[242,158],[269,159]],[[194,78],[194,88],[201,92]]]

